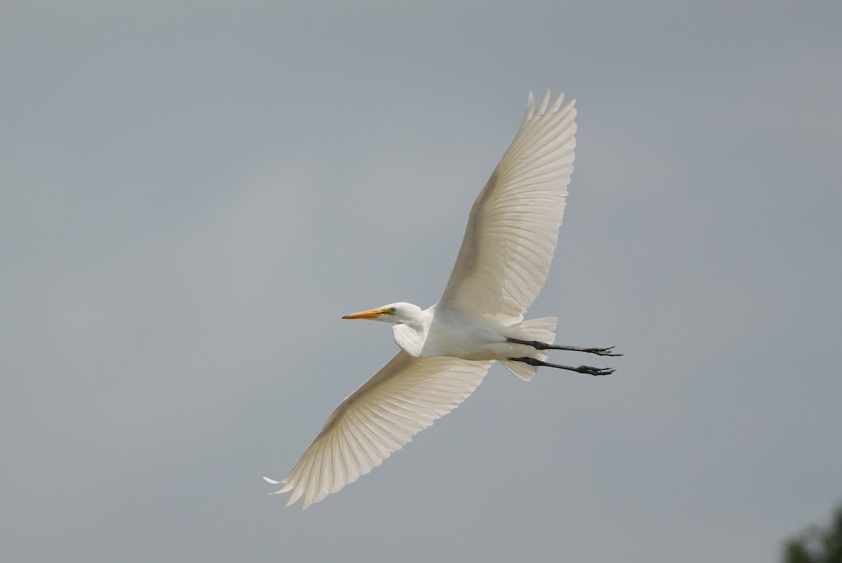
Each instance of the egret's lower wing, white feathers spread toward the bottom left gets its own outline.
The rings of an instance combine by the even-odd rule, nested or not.
[[[333,410],[275,494],[291,491],[287,507],[304,496],[304,510],[353,483],[455,409],[482,383],[492,363],[397,352]]]

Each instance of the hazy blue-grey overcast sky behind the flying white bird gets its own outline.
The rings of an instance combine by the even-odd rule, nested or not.
[[[8,561],[777,560],[842,501],[839,2],[5,2]],[[296,463],[440,296],[528,92],[578,99],[528,316],[306,512]],[[556,352],[558,362],[584,362]]]

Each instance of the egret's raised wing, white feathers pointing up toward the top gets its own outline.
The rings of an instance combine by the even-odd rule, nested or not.
[[[473,204],[440,307],[513,324],[544,286],[576,147],[575,100],[563,99],[547,109],[547,90],[534,110],[530,92],[520,130]]]

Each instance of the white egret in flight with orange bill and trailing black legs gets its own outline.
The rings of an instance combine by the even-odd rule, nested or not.
[[[303,496],[301,510],[380,465],[482,382],[495,360],[529,380],[540,366],[591,375],[613,369],[546,362],[546,350],[620,356],[606,348],[553,346],[555,317],[523,320],[556,248],[576,147],[575,100],[549,105],[547,90],[471,209],[456,265],[439,303],[391,303],[343,319],[394,323],[401,351],[333,410],[274,494]]]

